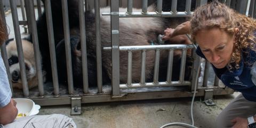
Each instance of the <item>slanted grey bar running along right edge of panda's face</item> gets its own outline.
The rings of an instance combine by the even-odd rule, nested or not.
[[[43,82],[42,66],[41,66],[41,59],[40,59],[40,51],[39,51],[39,45],[38,45],[34,1],[30,1],[30,0],[25,0],[25,1],[28,1],[28,3],[29,3],[29,12],[30,12],[29,17],[31,20],[31,35],[32,35],[32,40],[33,40],[34,54],[35,54],[35,61],[36,61],[38,90],[39,90],[39,95],[43,96],[44,95],[44,82]]]

